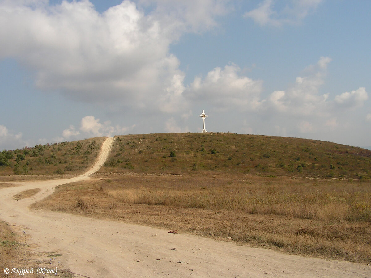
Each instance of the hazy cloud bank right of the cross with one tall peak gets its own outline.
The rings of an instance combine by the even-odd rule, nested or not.
[[[285,128],[284,134],[290,130],[287,134],[298,131],[312,135],[350,128],[347,112],[364,105],[367,92],[360,87],[338,95],[334,94],[336,92],[320,93],[330,62],[329,57],[320,57],[316,64],[306,67],[302,75],[296,77],[293,85],[286,90],[274,91],[261,100],[259,111],[269,121],[268,125],[275,128],[276,134],[281,134],[281,128]]]

